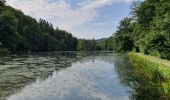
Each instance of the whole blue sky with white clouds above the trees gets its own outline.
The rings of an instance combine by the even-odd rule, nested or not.
[[[133,1],[136,0],[6,0],[37,21],[45,19],[54,28],[86,39],[114,34],[120,20],[129,16]]]

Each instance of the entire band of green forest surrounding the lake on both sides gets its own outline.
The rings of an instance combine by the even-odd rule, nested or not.
[[[77,39],[46,20],[24,15],[0,0],[0,51],[95,51],[141,52],[170,59],[170,1],[133,2],[128,17],[107,39]]]

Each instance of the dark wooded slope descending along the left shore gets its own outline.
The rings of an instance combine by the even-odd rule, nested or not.
[[[72,51],[77,49],[77,43],[70,33],[54,29],[43,19],[37,22],[0,0],[0,51]]]

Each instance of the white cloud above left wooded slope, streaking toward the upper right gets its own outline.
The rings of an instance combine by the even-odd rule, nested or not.
[[[6,0],[7,4],[21,9],[25,14],[37,20],[43,18],[54,27],[65,30],[76,29],[94,20],[98,16],[98,8],[113,3],[132,2],[134,0],[82,0],[77,8],[72,8],[66,0]],[[52,0],[50,0],[52,1]]]

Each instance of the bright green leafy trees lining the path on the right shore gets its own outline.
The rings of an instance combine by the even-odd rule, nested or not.
[[[170,1],[135,2],[111,37],[117,52],[135,51],[170,59]]]

